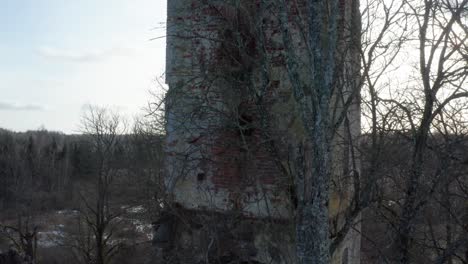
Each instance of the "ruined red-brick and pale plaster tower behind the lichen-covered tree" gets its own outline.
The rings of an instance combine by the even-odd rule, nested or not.
[[[357,0],[340,3],[338,68],[355,75],[358,59],[348,25],[354,24]],[[286,26],[303,47],[304,2],[286,5]],[[310,157],[304,150],[310,146],[288,81],[278,12],[279,6],[260,0],[168,1],[166,191],[172,205],[159,225],[173,235],[156,242],[172,261],[295,263],[301,190],[294,175],[302,171],[307,180]],[[348,95],[340,96],[355,96],[344,83]],[[332,228],[344,225],[342,214],[353,196],[349,175],[357,170],[355,164],[350,168],[346,136],[359,134],[357,103],[347,116],[332,150]],[[359,250],[360,237],[350,232],[333,262],[359,263]]]

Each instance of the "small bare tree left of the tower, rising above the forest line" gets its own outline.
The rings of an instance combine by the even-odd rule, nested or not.
[[[81,131],[90,138],[96,158],[94,182],[80,193],[80,232],[71,245],[85,263],[110,263],[121,246],[112,241],[115,222],[122,213],[120,206],[113,204],[112,187],[118,173],[115,150],[125,129],[121,116],[106,108],[89,106],[81,120]]]

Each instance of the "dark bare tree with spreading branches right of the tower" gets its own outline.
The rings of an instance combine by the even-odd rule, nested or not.
[[[460,22],[467,2],[403,1],[394,10],[385,3],[390,2],[382,2],[385,18],[401,18],[397,34],[382,37],[393,42],[375,42],[375,48],[396,48],[399,54],[384,57],[386,64],[377,65],[376,74],[368,74],[370,64],[363,63],[369,93],[363,109],[371,141],[363,180],[364,186],[373,185],[363,195],[374,196],[372,210],[387,229],[387,235],[380,234],[390,238],[376,250],[386,261],[398,252],[399,263],[451,263],[463,259],[460,251],[466,247],[465,214],[456,213],[463,208],[459,199],[466,199],[466,182],[460,180],[463,158],[456,153],[466,140],[466,30]],[[435,210],[450,216],[434,215]],[[438,257],[421,257],[427,252]]]

